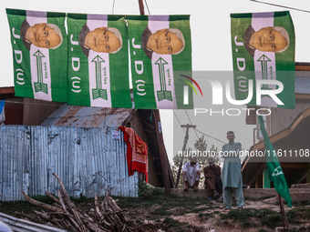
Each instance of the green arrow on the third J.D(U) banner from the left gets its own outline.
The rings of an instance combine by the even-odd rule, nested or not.
[[[167,90],[166,76],[165,76],[165,65],[168,65],[168,63],[167,61],[165,61],[163,58],[160,57],[155,62],[155,65],[159,66],[160,71],[160,90],[157,91],[158,100],[159,102],[164,99],[172,101],[171,91]]]

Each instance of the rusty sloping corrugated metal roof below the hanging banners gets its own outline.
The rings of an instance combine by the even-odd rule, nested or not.
[[[61,106],[41,126],[118,127],[135,112],[131,108]]]

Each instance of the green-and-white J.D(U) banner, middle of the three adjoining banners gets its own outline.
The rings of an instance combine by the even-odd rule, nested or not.
[[[124,16],[67,14],[68,104],[131,108]]]

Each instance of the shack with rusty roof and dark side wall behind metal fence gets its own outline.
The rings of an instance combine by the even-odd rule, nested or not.
[[[102,108],[86,106],[61,106],[41,124],[41,126],[77,126],[84,128],[104,128],[106,126],[129,126],[134,129],[149,146],[149,183],[164,187],[156,128],[152,110],[132,108]],[[168,159],[167,159],[168,160]],[[171,170],[170,166],[169,169]],[[172,186],[172,174],[171,174]]]

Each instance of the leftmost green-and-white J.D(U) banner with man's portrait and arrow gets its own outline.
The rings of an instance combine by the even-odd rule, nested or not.
[[[6,9],[15,96],[67,102],[65,13]]]

